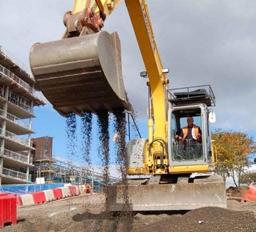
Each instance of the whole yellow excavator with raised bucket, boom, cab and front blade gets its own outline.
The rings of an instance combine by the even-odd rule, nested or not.
[[[102,31],[119,2],[75,0],[73,11],[64,15],[62,39],[31,48],[37,85],[64,117],[116,107],[130,110],[118,34]],[[127,174],[134,178],[127,186],[109,188],[108,210],[122,210],[124,191],[133,211],[225,208],[225,183],[213,174],[217,159],[209,129],[215,117],[210,108],[215,105],[213,90],[209,85],[168,89],[168,69],[162,67],[146,1],[125,2],[146,67],[141,77],[148,78],[148,139],[128,143]],[[187,126],[191,120],[192,129]]]

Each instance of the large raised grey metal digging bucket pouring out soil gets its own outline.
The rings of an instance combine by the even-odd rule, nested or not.
[[[36,43],[29,59],[39,89],[64,117],[70,112],[130,109],[116,32]]]

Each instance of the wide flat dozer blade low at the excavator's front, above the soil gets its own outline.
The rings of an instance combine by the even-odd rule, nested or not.
[[[223,181],[108,187],[108,211],[122,211],[127,199],[131,211],[190,210],[206,206],[227,207]],[[126,206],[127,209],[127,206]]]

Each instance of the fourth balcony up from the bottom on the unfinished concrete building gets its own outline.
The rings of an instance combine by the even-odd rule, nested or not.
[[[11,131],[17,135],[34,133],[34,131],[29,128],[28,121],[18,118],[10,113],[7,113],[5,117],[4,111],[0,109],[0,123],[2,123],[2,120],[4,119],[6,119],[7,131]]]

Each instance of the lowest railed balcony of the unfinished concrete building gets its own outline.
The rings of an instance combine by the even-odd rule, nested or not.
[[[27,175],[23,172],[18,172],[12,169],[2,168],[2,184],[22,184],[28,183]]]

